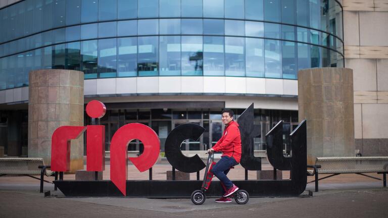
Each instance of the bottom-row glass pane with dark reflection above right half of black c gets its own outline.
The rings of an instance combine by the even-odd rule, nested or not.
[[[182,36],[182,76],[200,76],[203,70],[202,36]]]

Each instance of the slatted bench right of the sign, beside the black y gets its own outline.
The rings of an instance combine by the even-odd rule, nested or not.
[[[383,187],[386,187],[386,173],[388,173],[388,156],[371,157],[317,157],[315,165],[307,166],[308,176],[315,176],[315,191],[318,192],[318,181],[339,174],[359,174],[369,178],[381,180],[364,173],[383,174]],[[332,174],[318,179],[319,174]]]

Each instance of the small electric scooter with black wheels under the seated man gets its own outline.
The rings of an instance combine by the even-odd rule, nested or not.
[[[206,200],[205,192],[209,189],[210,183],[212,182],[212,179],[214,177],[213,173],[211,172],[213,166],[216,164],[216,162],[212,162],[210,165],[210,159],[212,157],[212,153],[209,153],[208,161],[206,163],[206,170],[204,175],[204,181],[202,182],[201,190],[195,190],[191,194],[191,202],[197,205],[203,204]],[[209,169],[210,166],[210,169]],[[234,168],[234,167],[231,167]],[[221,183],[224,190],[226,190],[225,186]],[[246,204],[249,200],[249,194],[245,190],[237,190],[232,195],[229,195],[228,197],[234,198],[236,203],[238,204]]]

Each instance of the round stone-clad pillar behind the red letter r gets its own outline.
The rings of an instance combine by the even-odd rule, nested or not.
[[[83,126],[83,72],[29,73],[28,156],[51,164],[51,137],[60,126]],[[83,169],[83,136],[71,141],[70,171]]]

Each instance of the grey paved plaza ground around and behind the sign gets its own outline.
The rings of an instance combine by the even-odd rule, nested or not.
[[[109,179],[106,166],[104,179]],[[271,170],[268,163],[263,170]],[[166,180],[171,166],[159,163],[153,168],[154,180]],[[202,176],[201,172],[201,176]],[[381,178],[381,175],[369,174]],[[244,169],[237,166],[230,172],[233,180],[244,179]],[[283,179],[289,177],[283,173]],[[66,174],[65,180],[74,179]],[[190,175],[196,179],[196,174]],[[52,180],[52,178],[46,178]],[[139,173],[128,165],[129,180],[147,180],[148,172]],[[250,172],[249,179],[256,179]],[[308,177],[308,181],[313,178]],[[387,217],[388,188],[382,182],[355,174],[338,175],[320,181],[320,192],[308,195],[314,184],[307,185],[299,197],[251,198],[246,205],[216,203],[208,198],[203,205],[194,205],[189,198],[66,198],[44,197],[39,193],[39,181],[25,176],[0,177],[0,217]],[[44,189],[54,190],[45,183]]]

